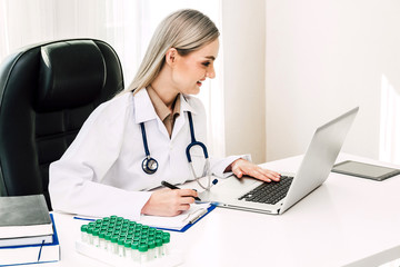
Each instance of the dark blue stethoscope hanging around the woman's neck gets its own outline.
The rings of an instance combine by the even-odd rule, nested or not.
[[[187,149],[186,149],[186,154],[187,154],[187,158],[189,161],[189,166],[191,169],[191,172],[194,177],[194,180],[199,184],[199,186],[206,190],[209,190],[213,185],[216,185],[218,182],[217,179],[212,180],[211,182],[211,174],[209,174],[209,169],[210,169],[210,161],[209,161],[209,156],[208,156],[208,151],[207,151],[207,147],[204,144],[197,141],[196,137],[194,137],[194,127],[193,127],[193,120],[192,120],[192,116],[191,112],[188,111],[188,118],[189,118],[189,126],[190,126],[190,136],[191,136],[191,142],[188,145]],[[158,170],[159,164],[158,161],[152,158],[150,156],[150,151],[149,151],[149,147],[148,147],[148,142],[147,142],[147,136],[146,136],[146,129],[144,129],[144,122],[140,122],[140,128],[141,128],[141,132],[142,132],[142,138],[143,138],[143,146],[144,146],[144,152],[146,152],[146,158],[142,161],[142,169],[146,174],[148,175],[152,175]],[[204,158],[206,158],[206,164],[204,164],[204,168],[203,168],[203,172],[201,177],[208,176],[208,185],[203,186],[200,181],[199,178],[196,176],[194,172],[194,167],[193,167],[193,162],[191,159],[191,155],[190,155],[190,149],[194,146],[200,146]]]

